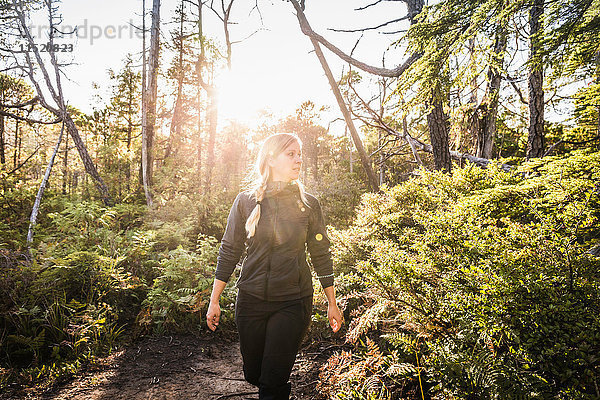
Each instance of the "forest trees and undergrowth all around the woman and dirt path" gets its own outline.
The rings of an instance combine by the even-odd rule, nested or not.
[[[302,140],[345,320],[315,275],[296,398],[600,398],[599,0],[352,0],[377,21],[331,29],[330,2],[142,0],[90,111],[63,90],[66,3],[0,0],[0,399],[58,398],[144,340],[235,345],[235,279],[216,333],[205,314],[276,132]],[[219,85],[260,46],[236,29],[272,7],[332,106],[225,120]],[[367,33],[389,58],[355,54]]]

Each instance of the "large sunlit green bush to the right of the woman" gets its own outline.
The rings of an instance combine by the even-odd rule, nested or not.
[[[600,153],[577,151],[511,173],[422,171],[364,195],[332,233],[338,290],[362,304],[348,339],[408,338],[387,351],[406,362],[412,341],[430,394],[594,398],[599,180]]]

